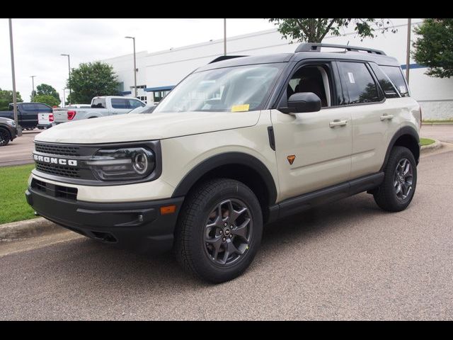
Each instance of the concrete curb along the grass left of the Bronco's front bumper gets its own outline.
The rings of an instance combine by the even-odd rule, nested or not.
[[[61,229],[62,227],[46,220],[44,217],[5,223],[4,225],[0,225],[0,242],[25,239]]]

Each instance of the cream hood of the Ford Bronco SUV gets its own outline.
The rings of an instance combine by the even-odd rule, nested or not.
[[[35,137],[38,142],[96,144],[162,140],[256,125],[260,111],[127,113],[55,125]]]

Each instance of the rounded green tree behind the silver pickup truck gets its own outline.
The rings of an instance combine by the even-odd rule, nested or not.
[[[119,84],[109,64],[81,63],[79,68],[71,70],[71,79],[67,81],[67,87],[72,91],[68,101],[91,103],[91,99],[96,96],[114,96],[118,93]]]

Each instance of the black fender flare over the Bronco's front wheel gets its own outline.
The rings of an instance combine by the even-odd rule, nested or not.
[[[266,190],[268,191],[268,205],[275,204],[277,200],[277,188],[273,176],[270,174],[269,169],[256,157],[251,154],[243,152],[224,152],[222,154],[216,154],[215,156],[209,157],[197,164],[191,169],[188,174],[178,183],[173,195],[171,197],[185,196],[190,191],[190,188],[202,178],[205,174],[219,166],[241,164],[248,168],[256,171],[265,183]]]

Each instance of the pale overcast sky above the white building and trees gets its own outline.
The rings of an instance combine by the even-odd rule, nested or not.
[[[226,37],[275,28],[261,18],[226,19]],[[157,52],[171,47],[192,45],[222,39],[222,18],[188,19],[13,19],[14,64],[16,91],[23,101],[30,100],[32,78],[38,84],[50,84],[62,98],[68,77],[68,60],[71,68],[81,62],[93,62],[132,53],[134,36],[136,51]],[[0,19],[0,89],[12,90],[11,55],[9,48],[8,19]]]

